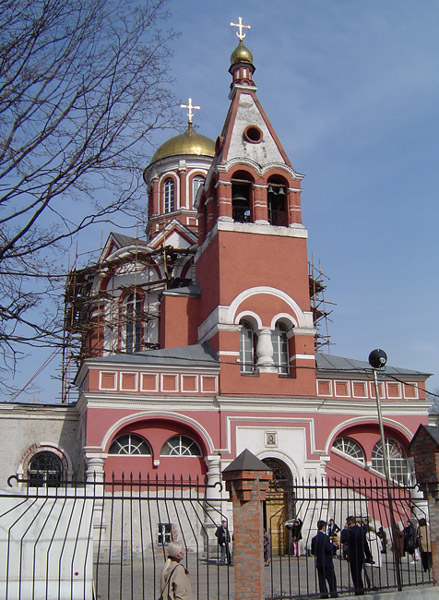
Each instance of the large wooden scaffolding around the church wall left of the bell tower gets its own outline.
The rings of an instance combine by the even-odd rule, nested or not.
[[[158,347],[155,342],[146,341],[151,324],[157,323],[158,311],[151,306],[150,295],[166,289],[175,289],[189,285],[191,279],[176,276],[175,267],[180,259],[186,258],[189,268],[193,263],[195,250],[162,246],[152,250],[144,240],[135,239],[133,249],[127,249],[123,255],[100,259],[97,263],[78,268],[76,255],[74,267],[69,269],[64,294],[64,340],[62,352],[62,402],[70,402],[73,387],[72,373],[87,358],[116,354],[121,352],[118,343],[120,331],[127,323],[142,323],[142,350]],[[102,255],[102,251],[101,251]],[[161,265],[163,277],[138,280],[138,274],[146,268],[158,268]],[[128,285],[114,285],[118,271],[129,267],[133,281]],[[112,286],[103,285],[105,279],[111,279]],[[135,304],[133,311],[124,314],[118,305],[119,298],[130,291],[142,291],[145,294],[142,308]],[[113,342],[107,347],[108,341]]]

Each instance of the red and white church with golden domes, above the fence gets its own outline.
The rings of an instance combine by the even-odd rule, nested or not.
[[[14,438],[4,476],[35,481],[46,469],[61,479],[214,483],[249,449],[279,480],[384,477],[369,364],[316,344],[303,175],[258,100],[243,28],[216,141],[195,129],[189,99],[186,131],[144,170],[145,237],[112,233],[98,263],[71,273],[78,400],[3,406]],[[427,378],[380,373],[401,484],[411,477],[410,440],[428,423]]]

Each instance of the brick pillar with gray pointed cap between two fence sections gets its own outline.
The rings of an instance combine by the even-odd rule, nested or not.
[[[235,600],[264,600],[262,502],[273,473],[244,450],[222,475],[233,503]]]

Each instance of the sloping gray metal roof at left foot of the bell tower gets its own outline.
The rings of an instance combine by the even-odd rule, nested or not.
[[[179,348],[162,348],[160,350],[147,350],[144,352],[133,352],[112,354],[111,356],[98,356],[87,359],[89,363],[121,363],[121,364],[144,364],[153,366],[172,367],[219,367],[216,353],[209,344],[194,344],[193,346],[180,346]]]

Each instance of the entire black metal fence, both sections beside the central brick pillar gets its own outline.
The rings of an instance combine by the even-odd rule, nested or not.
[[[219,564],[215,538],[222,517],[231,517],[219,483],[132,477],[56,487],[28,487],[28,483],[14,477],[11,489],[0,492],[1,598],[155,600],[171,540],[186,549],[194,600],[234,597],[234,568]],[[395,486],[391,495],[400,529],[408,519],[428,521],[427,504],[416,498],[416,489]],[[424,572],[418,560],[419,549],[405,555],[401,551],[395,559],[396,533],[384,486],[341,480],[329,484],[276,481],[264,512],[272,545],[270,564],[262,567],[267,599],[320,595],[309,551],[316,522],[333,518],[342,528],[348,515],[356,516],[364,527],[376,531],[383,527],[387,536],[382,546],[382,539],[368,531],[371,551],[378,551],[379,558],[366,567],[366,591],[367,577],[370,589],[432,583],[431,571]],[[296,553],[291,527],[295,520],[302,522]],[[337,589],[353,593],[340,532],[334,542]]]

